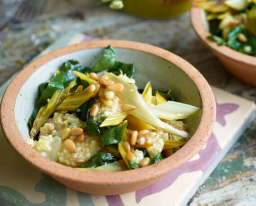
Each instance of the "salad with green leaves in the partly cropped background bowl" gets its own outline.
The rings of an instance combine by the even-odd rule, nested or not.
[[[256,56],[256,0],[196,0],[207,14],[212,39]]]

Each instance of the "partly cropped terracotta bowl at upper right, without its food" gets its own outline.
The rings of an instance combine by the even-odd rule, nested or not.
[[[244,82],[256,86],[256,57],[240,53],[226,46],[219,46],[207,39],[210,33],[207,30],[205,12],[195,5],[192,5],[190,10],[190,21],[199,39],[212,50],[230,73]]]

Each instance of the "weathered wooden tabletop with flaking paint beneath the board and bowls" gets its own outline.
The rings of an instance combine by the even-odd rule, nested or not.
[[[134,17],[95,0],[51,0],[40,17],[10,29],[0,45],[0,85],[67,31],[97,39],[126,39],[162,47],[193,64],[213,86],[256,102],[256,88],[228,73],[196,37],[189,14],[165,20]],[[189,205],[254,205],[256,121],[232,147]]]

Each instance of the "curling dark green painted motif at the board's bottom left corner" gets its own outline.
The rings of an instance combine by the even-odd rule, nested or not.
[[[22,193],[7,186],[0,185],[0,197],[18,206],[65,206],[66,186],[43,174],[43,179],[35,185],[35,191],[45,194],[45,201],[30,202]]]

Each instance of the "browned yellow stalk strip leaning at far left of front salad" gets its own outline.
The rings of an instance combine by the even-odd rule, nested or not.
[[[47,103],[44,107],[41,107],[37,116],[35,117],[35,121],[33,126],[30,130],[31,138],[35,138],[37,133],[39,132],[41,126],[48,120],[48,118],[53,114],[57,105],[61,102],[61,97],[64,90],[58,90],[54,92],[53,96],[51,97],[49,103]]]

